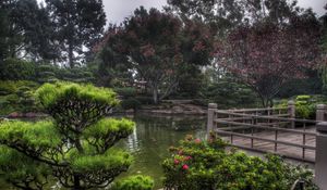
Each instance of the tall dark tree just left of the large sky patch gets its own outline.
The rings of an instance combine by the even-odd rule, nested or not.
[[[46,0],[57,39],[71,67],[101,37],[106,25],[102,0]],[[78,54],[75,56],[75,54]]]

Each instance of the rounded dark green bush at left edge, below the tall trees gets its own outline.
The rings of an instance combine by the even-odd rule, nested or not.
[[[1,80],[28,80],[35,76],[35,65],[16,59],[7,59],[0,64]]]

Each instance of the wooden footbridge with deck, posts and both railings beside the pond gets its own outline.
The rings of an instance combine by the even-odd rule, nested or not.
[[[214,105],[214,106],[213,106]],[[267,109],[242,109],[242,110],[218,110],[215,104],[208,110],[208,129],[222,136],[231,145],[259,152],[272,152],[290,159],[314,163],[313,156],[306,156],[310,150],[312,154],[316,150],[314,144],[308,144],[316,132],[310,131],[316,125],[316,121],[295,118],[295,106],[289,102],[288,107]],[[291,135],[296,142],[281,138]],[[238,140],[235,140],[238,138]],[[241,140],[240,140],[241,139]],[[249,141],[247,141],[247,140]],[[301,142],[299,140],[301,139]],[[239,142],[239,143],[238,143]],[[255,142],[274,145],[272,150],[255,145]],[[279,151],[279,147],[289,149],[301,149],[301,155],[294,155]]]

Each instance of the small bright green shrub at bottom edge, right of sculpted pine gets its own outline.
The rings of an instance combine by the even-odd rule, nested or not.
[[[146,176],[132,176],[117,181],[111,190],[152,190],[154,180]]]

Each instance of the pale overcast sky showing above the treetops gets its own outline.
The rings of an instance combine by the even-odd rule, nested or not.
[[[102,0],[109,23],[121,23],[125,17],[132,15],[133,11],[140,5],[157,8],[161,10],[167,0]],[[298,0],[302,8],[312,8],[318,15],[325,13],[324,5],[326,0]]]

